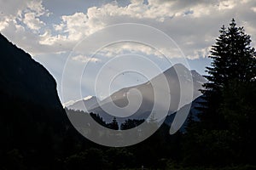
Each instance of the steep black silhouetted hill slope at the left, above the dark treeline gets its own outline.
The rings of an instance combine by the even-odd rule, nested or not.
[[[10,96],[61,108],[55,79],[29,54],[0,34],[0,90]]]

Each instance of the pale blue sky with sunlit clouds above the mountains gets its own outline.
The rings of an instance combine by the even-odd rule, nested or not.
[[[177,62],[206,74],[219,28],[232,18],[251,35],[253,47],[256,42],[254,0],[0,0],[0,4],[0,32],[55,77],[62,103],[98,91],[97,97],[104,98],[106,87],[111,94],[146,82]],[[151,71],[152,65],[159,71]],[[113,77],[110,82],[100,80],[102,86],[96,89],[99,75]]]

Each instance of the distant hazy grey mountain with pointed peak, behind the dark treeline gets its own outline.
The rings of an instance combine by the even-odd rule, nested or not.
[[[179,75],[177,75],[177,73]],[[192,76],[193,82],[191,82],[189,76]],[[165,78],[169,89],[166,89],[163,83]],[[170,93],[172,98],[168,111],[170,115],[181,109],[183,105],[189,104],[189,93],[191,93],[191,90],[187,88],[188,84],[191,85],[191,83],[193,83],[192,100],[194,100],[201,95],[199,89],[201,89],[201,85],[206,81],[207,80],[196,71],[189,71],[184,65],[177,64],[150,81],[137,86],[122,88],[111,94],[108,98],[99,101],[99,103],[96,101],[96,97],[94,97],[90,100],[80,100],[67,108],[84,111],[85,106],[86,111],[99,114],[106,122],[111,122],[113,116],[115,116],[117,121],[121,123],[125,122],[126,119],[146,119],[154,108],[154,105],[158,108],[155,111],[160,111],[161,108],[164,107],[162,106],[163,103],[165,103],[164,97],[166,94]],[[180,89],[183,89],[183,93],[180,93]],[[137,94],[137,92],[142,96],[142,103],[139,107],[137,107],[137,104],[140,102],[140,94]],[[159,95],[160,98],[154,101],[156,95]],[[130,103],[128,99],[130,99]],[[121,109],[116,109],[112,101],[114,105],[119,106]],[[129,106],[127,106],[128,104]],[[81,107],[81,105],[83,106]],[[88,105],[88,107],[86,105]],[[137,111],[135,111],[136,109]],[[122,115],[120,115],[120,112],[122,112]],[[134,114],[130,116],[130,112]]]

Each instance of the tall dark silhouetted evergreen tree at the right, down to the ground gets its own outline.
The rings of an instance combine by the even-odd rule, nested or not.
[[[228,28],[221,27],[210,51],[208,82],[201,90],[204,101],[197,108],[200,122],[190,123],[183,138],[187,164],[253,164],[256,53],[250,43],[250,36],[234,19]]]

